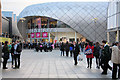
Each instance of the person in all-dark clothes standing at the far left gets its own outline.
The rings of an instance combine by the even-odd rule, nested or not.
[[[3,57],[3,69],[8,69],[6,67],[7,65],[7,60],[9,59],[9,47],[8,47],[8,42],[5,41],[5,45],[3,46],[3,53],[4,55],[2,56]]]

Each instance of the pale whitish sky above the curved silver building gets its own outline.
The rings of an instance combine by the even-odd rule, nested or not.
[[[17,16],[27,6],[46,2],[105,2],[109,0],[1,0],[2,11],[13,11]]]

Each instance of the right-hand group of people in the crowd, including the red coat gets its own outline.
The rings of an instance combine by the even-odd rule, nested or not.
[[[103,40],[102,44],[99,42],[66,42],[60,43],[61,56],[72,57],[74,55],[74,65],[78,64],[78,56],[83,52],[86,55],[87,68],[92,68],[92,60],[96,58],[96,68],[102,68],[102,75],[107,75],[108,69],[112,71],[112,78],[117,79],[116,74],[118,72],[118,78],[120,79],[120,43],[115,42],[109,45],[107,41]],[[109,62],[113,63],[111,67]],[[117,68],[119,67],[119,69]],[[117,71],[118,70],[118,71]]]

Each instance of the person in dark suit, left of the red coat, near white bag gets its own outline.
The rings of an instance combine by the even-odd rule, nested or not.
[[[74,61],[75,61],[75,64],[74,65],[77,65],[78,62],[77,62],[77,56],[78,54],[80,53],[80,48],[79,48],[79,45],[76,44],[76,42],[73,42],[73,53],[74,53]]]

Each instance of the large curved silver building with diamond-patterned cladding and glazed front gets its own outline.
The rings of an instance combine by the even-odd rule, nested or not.
[[[107,39],[107,8],[107,2],[55,2],[31,5],[19,14],[18,29],[24,40],[32,40],[31,36],[35,37],[36,34],[41,35],[41,39],[43,32],[47,32],[49,41],[52,36],[54,40],[60,40],[61,36],[66,38],[68,35],[64,34],[70,32],[69,35],[74,35],[75,41],[77,38],[85,38],[101,42]],[[59,22],[67,27],[58,27]],[[58,39],[55,34],[59,33],[61,35]]]

